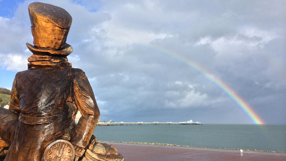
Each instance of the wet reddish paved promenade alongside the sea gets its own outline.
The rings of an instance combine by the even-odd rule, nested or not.
[[[167,145],[146,145],[129,143],[110,143],[125,161],[140,160],[286,160],[285,153],[278,152],[256,152],[244,151],[243,155],[239,150],[224,150],[212,148],[190,148]]]

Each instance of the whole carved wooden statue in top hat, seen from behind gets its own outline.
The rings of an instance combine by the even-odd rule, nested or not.
[[[28,70],[15,76],[9,109],[0,108],[0,157],[6,155],[5,161],[123,160],[112,145],[98,153],[103,148],[96,148],[100,143],[91,138],[100,113],[85,73],[67,60],[73,51],[66,43],[70,14],[39,2],[31,3],[28,10],[34,45],[26,45],[33,55]],[[75,124],[78,111],[82,116]]]

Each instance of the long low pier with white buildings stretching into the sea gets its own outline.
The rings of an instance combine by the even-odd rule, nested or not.
[[[134,126],[134,125],[203,125],[200,122],[192,122],[192,123],[186,123],[186,122],[176,122],[176,123],[170,123],[170,122],[124,122],[124,123],[108,123],[108,122],[99,122],[97,123],[97,126]]]

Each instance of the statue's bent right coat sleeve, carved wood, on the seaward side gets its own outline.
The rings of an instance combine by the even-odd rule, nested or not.
[[[85,148],[91,138],[99,118],[99,109],[85,73],[75,70],[73,82],[73,101],[81,113],[71,137],[71,143],[77,147]]]

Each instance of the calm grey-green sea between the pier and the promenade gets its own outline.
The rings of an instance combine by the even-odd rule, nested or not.
[[[101,141],[286,152],[286,125],[96,126],[93,134]]]

